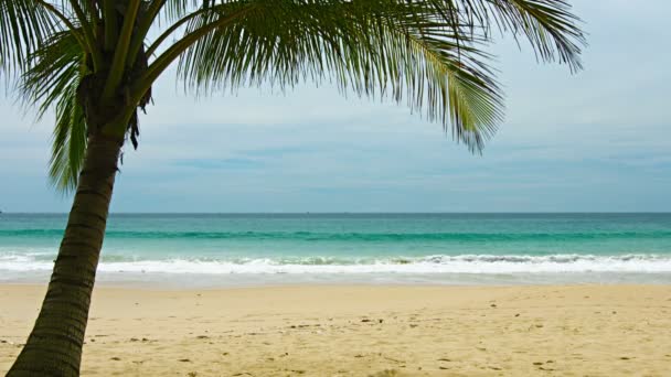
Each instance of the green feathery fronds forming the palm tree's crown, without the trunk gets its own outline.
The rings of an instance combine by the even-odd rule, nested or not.
[[[198,94],[329,80],[404,103],[480,151],[504,110],[492,34],[576,71],[579,24],[565,0],[0,0],[0,72],[20,74],[40,115],[55,109],[51,176],[72,188],[87,132],[77,87],[88,75],[107,77],[103,99],[123,93],[141,107],[172,63]]]

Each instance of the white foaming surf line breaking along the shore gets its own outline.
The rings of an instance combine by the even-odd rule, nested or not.
[[[322,260],[322,263],[316,260]],[[0,271],[51,270],[53,262],[31,255],[0,255]],[[670,273],[671,256],[661,255],[460,255],[420,258],[342,259],[238,259],[238,260],[129,260],[108,261],[98,266],[103,272],[131,273],[560,273],[560,272],[635,272]]]

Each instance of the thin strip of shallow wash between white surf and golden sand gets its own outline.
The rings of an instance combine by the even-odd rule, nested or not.
[[[2,284],[46,284],[51,270],[3,274]],[[671,286],[670,272],[525,272],[525,273],[159,273],[98,271],[96,287],[161,290],[271,288],[284,286],[372,287],[533,287],[585,284]]]

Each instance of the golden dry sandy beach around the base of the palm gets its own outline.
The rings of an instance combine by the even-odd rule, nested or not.
[[[0,375],[43,287],[0,286]],[[671,376],[671,287],[98,288],[85,376]]]

